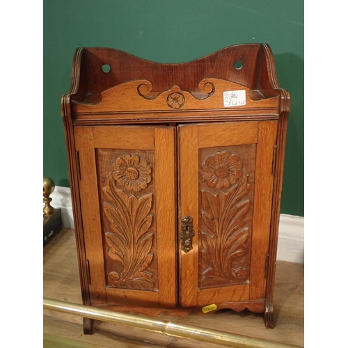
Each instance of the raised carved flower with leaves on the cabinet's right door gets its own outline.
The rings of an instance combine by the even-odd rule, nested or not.
[[[219,177],[216,172],[221,166],[225,166],[226,170],[221,170],[224,176]],[[219,286],[230,285],[248,277],[244,265],[236,262],[247,252],[245,242],[249,229],[243,221],[250,206],[250,200],[245,197],[249,189],[247,176],[242,170],[242,162],[237,155],[230,152],[216,152],[214,157],[208,157],[208,161],[203,164],[203,177],[204,169],[209,169],[206,171],[209,187],[230,187],[232,183],[234,185],[227,193],[219,191],[214,195],[202,191],[204,228],[201,231],[201,243],[206,266],[201,282],[204,287],[214,287],[216,283]],[[226,180],[220,180],[221,177]]]

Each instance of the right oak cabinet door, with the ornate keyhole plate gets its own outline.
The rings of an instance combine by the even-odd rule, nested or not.
[[[179,248],[182,307],[264,298],[276,132],[276,121],[179,127],[179,216],[195,231]]]

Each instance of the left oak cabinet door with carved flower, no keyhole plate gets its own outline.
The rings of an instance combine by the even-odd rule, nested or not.
[[[74,128],[93,304],[176,305],[175,129]]]

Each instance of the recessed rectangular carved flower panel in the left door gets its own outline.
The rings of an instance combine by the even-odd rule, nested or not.
[[[98,150],[106,285],[158,289],[153,152]]]

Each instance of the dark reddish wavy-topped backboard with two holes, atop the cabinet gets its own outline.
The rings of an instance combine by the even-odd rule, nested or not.
[[[174,85],[180,86],[182,90],[199,90],[199,82],[206,77],[226,79],[254,90],[258,89],[260,70],[268,75],[265,77],[267,80],[274,75],[271,66],[267,65],[267,59],[261,60],[265,56],[262,50],[264,46],[267,45],[230,46],[195,61],[177,64],[145,61],[118,49],[78,48],[70,90],[74,93],[74,100],[83,102],[89,95],[102,93],[103,90],[135,79],[152,81],[152,92],[158,93]],[[242,69],[235,68],[236,61],[242,61]],[[108,73],[102,71],[105,63],[111,67]]]

